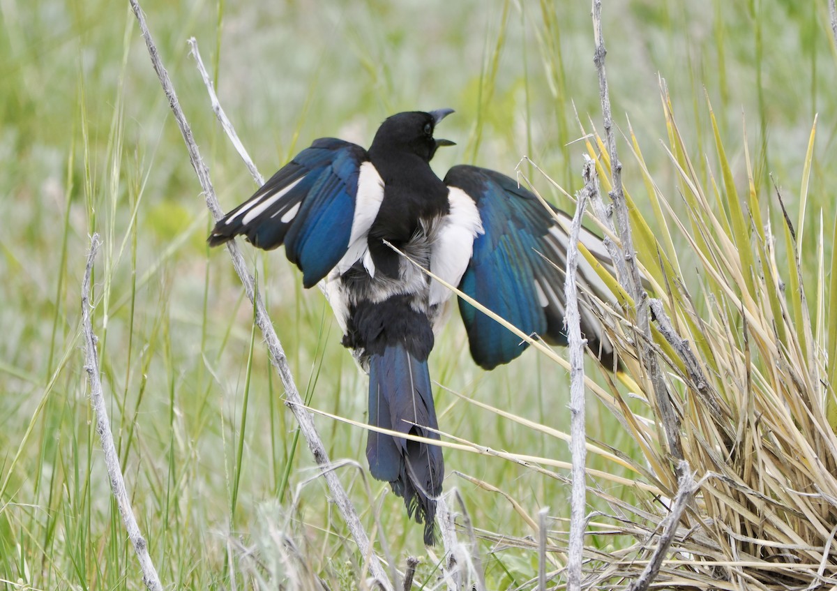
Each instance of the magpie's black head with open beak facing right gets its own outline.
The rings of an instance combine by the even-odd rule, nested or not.
[[[415,154],[430,162],[439,146],[454,146],[450,140],[437,140],[433,136],[436,124],[453,113],[453,109],[410,111],[398,113],[377,128],[370,150],[402,151]]]

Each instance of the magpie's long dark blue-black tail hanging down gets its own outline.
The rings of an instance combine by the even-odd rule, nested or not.
[[[377,427],[430,439],[439,429],[427,359],[419,360],[401,343],[384,347],[369,362],[369,422]],[[424,523],[424,543],[435,542],[435,497],[442,492],[442,450],[387,434],[369,432],[367,459],[372,476],[388,481],[403,496],[410,516]]]

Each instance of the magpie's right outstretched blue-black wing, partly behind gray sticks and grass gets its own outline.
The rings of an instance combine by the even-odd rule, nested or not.
[[[566,345],[564,270],[571,218],[553,208],[566,222],[559,223],[514,179],[485,168],[453,167],[444,182],[474,200],[484,230],[475,238],[460,290],[521,331]],[[583,229],[580,241],[612,268],[595,234]],[[614,296],[583,258],[579,259],[578,284],[581,330],[588,348],[605,367],[614,368],[614,347],[593,313],[597,304],[590,295],[603,301],[613,301]],[[526,348],[520,337],[461,299],[460,312],[471,356],[481,367],[510,362]]]

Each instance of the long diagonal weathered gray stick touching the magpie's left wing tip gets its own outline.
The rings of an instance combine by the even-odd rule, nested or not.
[[[215,196],[212,181],[209,178],[208,167],[203,163],[203,159],[198,151],[198,145],[194,141],[192,130],[186,121],[186,116],[183,115],[183,110],[180,108],[179,102],[177,101],[177,95],[174,91],[172,80],[169,79],[168,73],[165,67],[163,67],[160,56],[157,54],[157,46],[154,44],[153,39],[151,39],[151,32],[148,30],[145,15],[142,13],[139,3],[137,0],[130,0],[130,2],[131,8],[136,15],[136,20],[140,24],[142,38],[146,41],[148,54],[151,56],[151,64],[153,64],[154,69],[157,72],[157,77],[160,79],[160,84],[162,85],[163,91],[166,93],[169,105],[172,107],[172,112],[175,120],[177,121],[177,126],[180,127],[183,141],[186,142],[189,159],[192,162],[195,172],[198,174],[198,181],[201,184],[201,188],[203,188],[207,207],[212,212],[213,218],[220,219],[223,216],[223,212],[218,204],[218,198]],[[314,419],[311,413],[306,410],[305,404],[300,397],[299,390],[296,388],[294,377],[290,373],[290,367],[288,367],[287,357],[285,357],[285,351],[282,348],[279,337],[276,336],[276,331],[270,321],[270,316],[268,316],[267,311],[264,309],[264,303],[261,299],[261,295],[258,290],[255,289],[253,277],[250,275],[247,265],[244,262],[244,257],[241,255],[241,252],[234,241],[227,243],[227,249],[229,250],[230,257],[233,259],[235,271],[239,274],[239,278],[244,284],[244,290],[247,292],[247,297],[254,303],[256,308],[256,324],[262,331],[264,341],[267,343],[268,351],[270,352],[270,361],[273,363],[276,371],[279,372],[282,384],[285,386],[285,405],[288,406],[296,417],[296,420],[299,422],[300,431],[306,438],[308,448],[311,450],[311,454],[314,455],[314,460],[317,465],[319,465],[323,470],[323,477],[326,479],[326,484],[331,491],[333,501],[335,502],[338,510],[341,512],[343,519],[346,520],[347,527],[349,528],[349,531],[352,532],[352,537],[357,543],[357,547],[362,556],[366,557],[369,561],[368,566],[369,571],[372,573],[372,577],[376,578],[377,583],[389,591],[393,588],[393,584],[390,583],[389,577],[386,571],[384,571],[380,561],[377,559],[377,556],[374,552],[372,552],[367,532],[363,529],[360,518],[357,516],[357,511],[355,511],[355,507],[352,505],[352,501],[349,499],[349,496],[343,488],[340,479],[337,478],[337,475],[333,470],[329,469],[331,461],[326,453],[326,448],[322,444],[320,435],[316,432]]]

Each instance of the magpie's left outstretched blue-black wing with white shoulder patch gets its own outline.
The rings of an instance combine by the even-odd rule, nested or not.
[[[311,287],[338,264],[348,268],[362,257],[382,199],[383,181],[366,150],[325,137],[215,224],[208,242],[243,234],[259,249],[285,244],[303,285]]]

